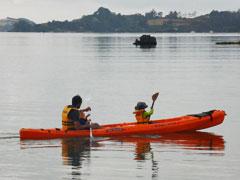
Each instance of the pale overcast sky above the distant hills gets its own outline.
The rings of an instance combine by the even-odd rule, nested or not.
[[[155,9],[164,15],[172,10],[201,15],[213,9],[237,11],[240,0],[0,0],[0,19],[24,17],[36,23],[72,20],[92,14],[99,7],[121,14],[144,14]]]

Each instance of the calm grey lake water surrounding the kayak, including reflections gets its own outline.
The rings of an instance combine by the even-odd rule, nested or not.
[[[239,179],[240,34],[0,33],[0,179]],[[100,124],[134,121],[137,101],[155,118],[224,109],[204,132],[115,139],[20,141],[22,127],[61,126],[80,94]]]

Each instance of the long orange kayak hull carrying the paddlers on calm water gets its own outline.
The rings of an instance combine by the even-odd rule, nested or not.
[[[131,135],[154,135],[177,132],[189,132],[201,130],[219,125],[223,122],[225,112],[212,110],[199,114],[185,115],[169,119],[152,120],[149,124],[137,124],[136,122],[102,125],[100,129],[94,129],[94,137],[131,136]],[[53,129],[20,129],[20,139],[57,139],[67,137],[86,137],[89,130],[63,131]]]

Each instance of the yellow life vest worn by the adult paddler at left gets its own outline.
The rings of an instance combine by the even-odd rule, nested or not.
[[[65,106],[62,111],[62,129],[64,131],[75,129],[73,121],[71,119],[69,119],[69,117],[68,117],[68,114],[72,109],[79,110],[79,109],[73,108],[71,106]]]

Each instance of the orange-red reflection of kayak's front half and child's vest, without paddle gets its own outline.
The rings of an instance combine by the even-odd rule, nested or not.
[[[187,150],[224,151],[225,142],[221,135],[207,132],[184,132],[159,136],[115,137],[112,140],[136,145],[135,160],[145,160],[151,153],[151,143],[176,145]],[[212,153],[211,153],[212,154]]]

